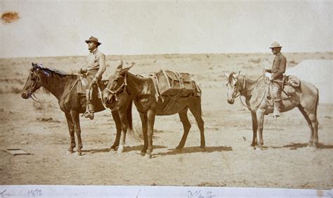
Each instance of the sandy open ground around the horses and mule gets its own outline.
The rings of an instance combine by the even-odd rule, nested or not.
[[[306,58],[332,59],[332,53],[289,53],[287,67]],[[308,150],[306,120],[298,110],[283,113],[275,121],[265,118],[265,150],[249,149],[252,122],[239,100],[226,101],[223,72],[241,70],[259,77],[270,67],[270,54],[134,55],[108,56],[108,77],[122,59],[136,62],[131,72],[155,72],[160,68],[190,72],[202,88],[202,110],[207,150],[199,149],[200,132],[192,114],[192,128],[182,152],[174,148],[183,126],[178,115],[157,117],[152,159],[141,157],[143,141],[126,138],[126,152],[110,151],[115,123],[109,111],[93,121],[81,119],[83,155],[66,154],[70,136],[63,112],[52,96],[37,93],[51,103],[37,104],[20,96],[31,62],[46,67],[77,70],[82,57],[1,59],[0,90],[0,185],[194,185],[228,187],[287,187],[331,189],[333,187],[333,105],[320,104],[320,147]],[[140,130],[133,107],[133,123]],[[8,148],[22,148],[31,155],[12,156]]]

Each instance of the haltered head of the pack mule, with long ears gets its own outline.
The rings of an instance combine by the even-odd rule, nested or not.
[[[122,93],[126,87],[126,73],[133,67],[122,68],[122,62],[118,65],[115,74],[112,74],[109,78],[106,88],[103,91],[103,100],[107,105],[115,104],[118,100],[117,95]]]

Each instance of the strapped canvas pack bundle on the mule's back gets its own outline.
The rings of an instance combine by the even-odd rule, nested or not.
[[[186,97],[195,94],[195,83],[188,73],[160,70],[156,73],[156,77],[161,95]]]

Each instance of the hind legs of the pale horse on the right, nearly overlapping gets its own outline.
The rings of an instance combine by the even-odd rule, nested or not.
[[[318,120],[315,113],[308,113],[303,107],[299,106],[299,111],[303,114],[303,117],[308,122],[310,128],[310,140],[308,141],[309,147],[316,147],[318,144]]]

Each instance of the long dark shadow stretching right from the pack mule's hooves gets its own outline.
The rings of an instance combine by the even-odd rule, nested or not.
[[[169,149],[168,152],[159,152],[155,155],[165,156],[169,154],[186,154],[194,152],[223,152],[223,151],[232,151],[232,147],[205,147],[204,149],[200,147],[184,147],[182,150]]]

